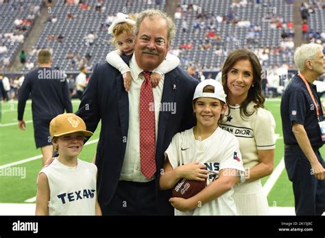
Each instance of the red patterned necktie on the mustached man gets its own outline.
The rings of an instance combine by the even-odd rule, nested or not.
[[[150,72],[143,71],[145,80],[140,90],[140,161],[141,172],[151,178],[156,172],[156,124],[154,115],[154,93]]]

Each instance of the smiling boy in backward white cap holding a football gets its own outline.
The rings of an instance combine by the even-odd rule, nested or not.
[[[232,186],[245,170],[237,138],[218,127],[226,107],[221,83],[206,79],[197,85],[193,96],[197,124],[173,136],[159,182],[160,189],[170,189],[180,178],[207,178],[207,187],[188,199],[170,198],[175,215],[237,215]]]

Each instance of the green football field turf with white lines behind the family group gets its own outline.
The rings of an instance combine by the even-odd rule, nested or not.
[[[73,100],[73,111],[77,111],[79,100]],[[280,98],[270,99],[265,103],[276,120],[276,153],[274,173],[262,179],[268,192],[270,207],[293,207],[293,191],[287,178],[283,158],[283,137],[280,119]],[[42,166],[40,149],[36,150],[32,125],[31,102],[27,101],[24,120],[26,131],[20,131],[17,122],[17,102],[1,104],[0,125],[0,203],[26,203],[36,196],[36,176]],[[78,156],[84,161],[92,161],[100,124],[95,134],[86,143]],[[324,149],[321,150],[322,155]]]

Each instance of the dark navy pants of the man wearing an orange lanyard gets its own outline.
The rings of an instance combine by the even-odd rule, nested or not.
[[[320,150],[314,149],[314,152],[325,168]],[[325,181],[315,178],[311,163],[299,146],[285,148],[285,168],[293,183],[296,215],[322,215],[325,211]]]

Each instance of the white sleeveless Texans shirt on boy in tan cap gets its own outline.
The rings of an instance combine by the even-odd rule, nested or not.
[[[69,167],[56,158],[40,173],[49,181],[49,215],[95,215],[95,164],[77,159],[77,166]]]

